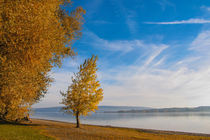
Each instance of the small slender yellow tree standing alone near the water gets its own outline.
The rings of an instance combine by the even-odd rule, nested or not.
[[[63,110],[67,113],[73,113],[76,117],[79,128],[79,116],[88,115],[89,112],[98,109],[98,104],[103,99],[103,90],[97,81],[97,57],[92,56],[80,65],[79,72],[72,77],[72,84],[66,92],[61,92],[64,97],[62,104],[65,105]]]

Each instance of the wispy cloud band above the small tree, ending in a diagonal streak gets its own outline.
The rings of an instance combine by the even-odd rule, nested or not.
[[[142,54],[141,57],[145,55],[149,55],[149,58],[146,62],[146,65],[151,63],[153,59],[155,59],[163,50],[168,48],[166,44],[153,44],[153,43],[145,43],[143,40],[106,40],[100,38],[95,33],[86,31],[84,33],[85,39],[83,43],[89,44],[94,46],[95,48],[104,49],[107,51],[112,52],[122,52],[124,54],[131,52],[131,51],[144,51],[145,53]],[[149,54],[149,53],[152,53]],[[136,60],[139,61],[139,60]]]

